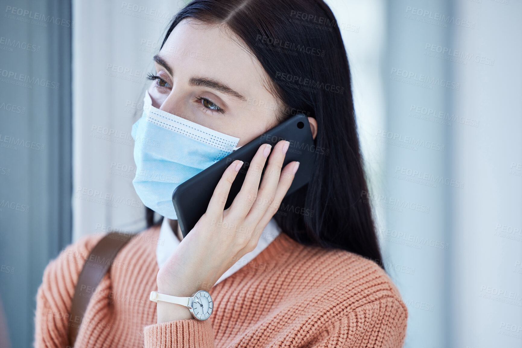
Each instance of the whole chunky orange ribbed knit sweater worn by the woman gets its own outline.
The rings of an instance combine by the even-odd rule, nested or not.
[[[344,250],[303,246],[281,233],[209,291],[209,319],[157,324],[159,227],[124,246],[92,296],[75,347],[401,347],[408,311],[386,273]],[[35,342],[68,346],[68,313],[82,265],[101,236],[52,260],[38,289]],[[87,289],[87,291],[89,291]]]

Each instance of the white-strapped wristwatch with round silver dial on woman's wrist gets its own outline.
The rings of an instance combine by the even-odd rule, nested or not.
[[[149,299],[156,303],[163,301],[185,306],[191,311],[194,319],[197,320],[207,320],[212,314],[212,297],[205,290],[198,290],[191,297],[177,297],[152,291]]]

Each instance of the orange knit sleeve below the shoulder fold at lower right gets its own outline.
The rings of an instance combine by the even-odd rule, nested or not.
[[[300,348],[401,348],[408,310],[398,299],[381,298],[333,320]]]

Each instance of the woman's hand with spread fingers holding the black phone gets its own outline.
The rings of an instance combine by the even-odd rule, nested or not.
[[[283,166],[288,148],[289,142],[284,140],[276,144],[271,154],[270,144],[259,146],[241,190],[225,209],[232,183],[243,163],[235,160],[227,166],[206,212],[160,268],[156,278],[158,292],[189,296],[197,290],[208,291],[238,259],[254,250],[299,169],[295,161]]]

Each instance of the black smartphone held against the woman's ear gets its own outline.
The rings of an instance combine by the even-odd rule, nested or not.
[[[287,191],[287,196],[296,189],[309,183],[314,169],[316,148],[308,118],[303,114],[296,114],[254,140],[246,143],[238,150],[227,155],[227,157],[212,164],[207,169],[189,178],[174,189],[172,193],[172,203],[183,237],[194,228],[201,216],[207,211],[208,203],[214,193],[214,189],[218,185],[227,167],[233,161],[241,160],[243,161],[243,166],[236,175],[234,183],[230,188],[225,209],[230,207],[235,196],[241,190],[248,166],[259,147],[264,143],[268,143],[272,145],[272,149],[274,149],[274,145],[281,140],[288,140],[290,142],[290,146],[284,157],[283,168],[292,161],[300,162],[292,185]],[[268,161],[266,161],[266,164],[267,163]],[[262,173],[265,172],[266,164]],[[262,179],[263,174],[259,184],[262,182]]]

